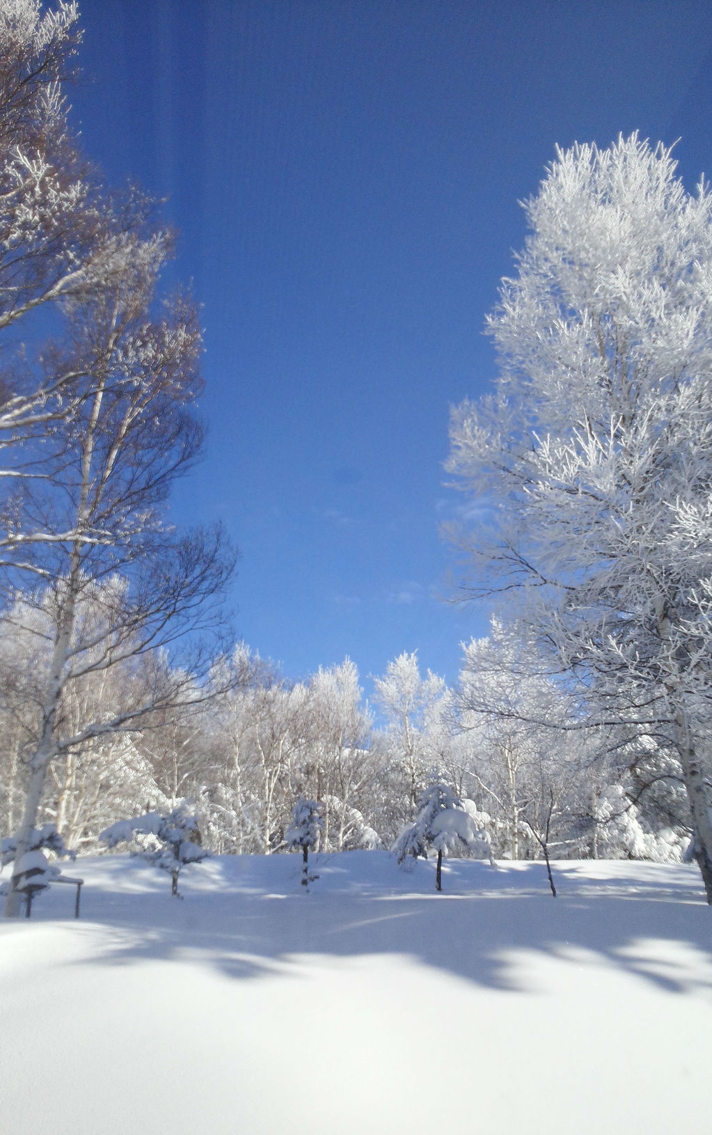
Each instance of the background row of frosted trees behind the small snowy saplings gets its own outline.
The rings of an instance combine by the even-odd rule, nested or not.
[[[98,589],[82,620],[101,619],[103,590],[120,586]],[[42,604],[18,599],[0,630],[3,834],[22,818],[51,650]],[[143,654],[77,675],[62,693],[62,730],[78,735],[87,721],[150,701],[167,666]],[[562,731],[566,692],[520,671],[522,650],[517,661],[494,623],[467,647],[456,688],[402,654],[375,679],[370,706],[353,662],[290,682],[239,645],[187,705],[68,746],[51,764],[39,818],[88,852],[111,823],[192,799],[206,847],[270,854],[286,850],[305,797],[323,807],[321,850],[389,848],[439,777],[471,801],[498,857],[537,858],[545,835],[553,857],[679,859],[689,840],[684,793],[669,782],[656,791],[673,770],[654,745],[634,745],[620,726]]]

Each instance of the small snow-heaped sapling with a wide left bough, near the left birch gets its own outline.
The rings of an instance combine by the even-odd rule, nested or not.
[[[210,851],[202,847],[197,816],[190,810],[193,801],[184,800],[167,815],[147,812],[145,816],[119,819],[100,833],[108,848],[118,843],[138,841],[141,850],[132,851],[146,863],[152,863],[171,877],[171,894],[180,898],[178,876],[184,867],[201,863]]]

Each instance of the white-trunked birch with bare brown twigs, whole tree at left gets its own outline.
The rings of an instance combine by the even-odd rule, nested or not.
[[[35,826],[48,767],[60,753],[147,713],[198,700],[196,679],[207,659],[167,666],[154,651],[210,627],[211,602],[230,570],[219,532],[178,537],[158,507],[200,446],[189,410],[200,337],[183,302],[150,317],[164,250],[160,238],[147,237],[135,251],[122,286],[82,304],[75,316],[73,347],[84,360],[86,396],[62,454],[61,479],[25,494],[26,507],[50,533],[33,541],[29,555],[25,549],[22,569],[43,581],[39,602],[50,614],[52,648],[20,843]],[[93,604],[83,602],[88,595]],[[98,720],[67,735],[65,690],[90,671],[130,658],[143,659],[143,681],[120,712],[107,714],[104,707]],[[8,914],[16,913],[14,897]]]

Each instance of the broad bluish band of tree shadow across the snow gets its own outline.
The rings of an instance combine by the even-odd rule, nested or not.
[[[310,894],[298,884],[278,894],[186,888],[181,903],[121,896],[101,914],[86,910],[94,922],[85,933],[95,934],[96,923],[111,927],[95,953],[103,965],[195,960],[238,980],[296,977],[316,956],[390,955],[494,990],[534,991],[527,960],[543,956],[591,967],[592,976],[609,967],[671,993],[712,992],[712,910],[692,872],[684,875],[689,885],[679,874],[668,885],[659,868],[650,877],[596,880],[558,864],[553,899],[539,864],[493,872],[451,863],[442,894],[425,890],[430,865],[421,866],[425,875],[399,876],[390,893],[367,884],[320,891],[315,883]]]

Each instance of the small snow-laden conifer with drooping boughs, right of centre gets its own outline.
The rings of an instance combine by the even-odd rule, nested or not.
[[[398,863],[404,864],[408,856],[426,859],[433,848],[438,852],[435,889],[441,891],[443,855],[475,847],[493,861],[486,832],[475,826],[471,813],[448,784],[433,780],[421,793],[415,822],[398,836],[393,852]]]

